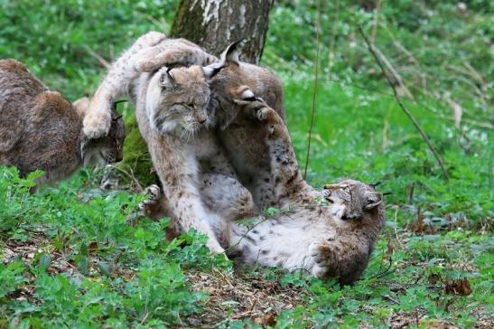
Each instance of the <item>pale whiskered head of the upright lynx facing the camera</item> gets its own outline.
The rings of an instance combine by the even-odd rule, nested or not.
[[[145,107],[151,127],[160,134],[193,136],[213,124],[208,79],[219,69],[200,66],[156,71],[147,88]]]

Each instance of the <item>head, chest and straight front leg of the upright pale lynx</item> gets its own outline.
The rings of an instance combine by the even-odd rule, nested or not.
[[[201,201],[200,164],[208,163],[219,173],[231,171],[208,130],[213,117],[207,72],[191,66],[143,73],[135,87],[135,116],[163,183],[173,230],[181,233],[195,228],[209,237],[211,251],[220,253],[224,250],[213,227],[223,220]]]

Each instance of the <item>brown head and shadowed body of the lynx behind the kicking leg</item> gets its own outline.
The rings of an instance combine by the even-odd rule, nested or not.
[[[251,90],[284,120],[282,86],[273,72],[238,61],[238,50],[230,48],[222,55],[223,69],[210,81],[212,92],[219,99],[218,136],[238,179],[252,193],[257,207],[264,210],[279,205],[266,130],[259,129],[253,113],[245,110],[246,104],[239,101],[239,96],[242,91]]]

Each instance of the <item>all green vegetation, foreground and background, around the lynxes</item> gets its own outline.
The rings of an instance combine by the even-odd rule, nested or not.
[[[341,177],[380,181],[381,191],[392,193],[386,230],[355,286],[234,267],[210,255],[193,231],[166,241],[167,221],[144,218],[136,208],[141,196],[126,186],[99,190],[101,173],[81,170],[32,195],[36,174],[23,180],[1,168],[0,328],[492,327],[493,65],[484,46],[492,31],[488,2],[466,4],[466,14],[459,14],[448,1],[403,0],[378,11],[340,1],[336,33],[335,4],[323,4],[308,180],[316,186]],[[109,60],[135,36],[166,31],[174,5],[0,2],[0,58],[24,61],[51,89],[78,99],[104,72],[91,53]],[[305,27],[314,16],[311,2],[279,3],[263,59],[283,81],[301,164],[314,48],[313,31]],[[377,16],[377,46],[421,103],[405,102],[443,155],[448,183],[357,37],[355,24],[372,31]],[[415,63],[400,59],[396,41]],[[417,82],[421,76],[426,88]],[[443,98],[448,91],[462,108],[460,128]]]

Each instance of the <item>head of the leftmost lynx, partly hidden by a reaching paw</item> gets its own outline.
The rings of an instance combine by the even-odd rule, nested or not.
[[[76,100],[72,106],[79,114],[79,118],[84,118],[86,108],[89,106],[89,99]],[[126,128],[124,118],[117,112],[117,102],[111,108],[111,126],[107,136],[98,139],[89,139],[82,136],[80,141],[80,155],[82,164],[104,165],[122,161],[124,140],[126,139]]]

